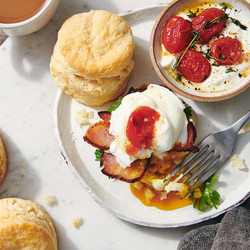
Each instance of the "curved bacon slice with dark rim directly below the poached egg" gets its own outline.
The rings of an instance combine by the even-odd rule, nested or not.
[[[145,174],[150,159],[136,160],[127,168],[122,168],[111,153],[103,153],[101,158],[102,173],[125,182],[139,181]]]

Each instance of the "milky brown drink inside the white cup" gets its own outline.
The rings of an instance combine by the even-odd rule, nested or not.
[[[18,23],[37,14],[46,0],[0,0],[0,23]]]

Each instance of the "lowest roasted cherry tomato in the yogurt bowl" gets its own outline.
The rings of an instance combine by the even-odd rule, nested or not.
[[[177,69],[188,81],[199,83],[208,78],[211,65],[199,52],[188,50]]]

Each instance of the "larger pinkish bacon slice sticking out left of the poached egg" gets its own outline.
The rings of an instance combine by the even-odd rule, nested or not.
[[[88,128],[83,140],[93,147],[108,150],[114,136],[109,133],[109,123],[100,121]]]

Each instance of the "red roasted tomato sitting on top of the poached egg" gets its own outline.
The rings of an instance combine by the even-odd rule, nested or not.
[[[131,113],[126,135],[130,142],[126,146],[128,155],[134,156],[142,148],[150,149],[155,134],[155,122],[160,114],[150,107],[139,107]]]

